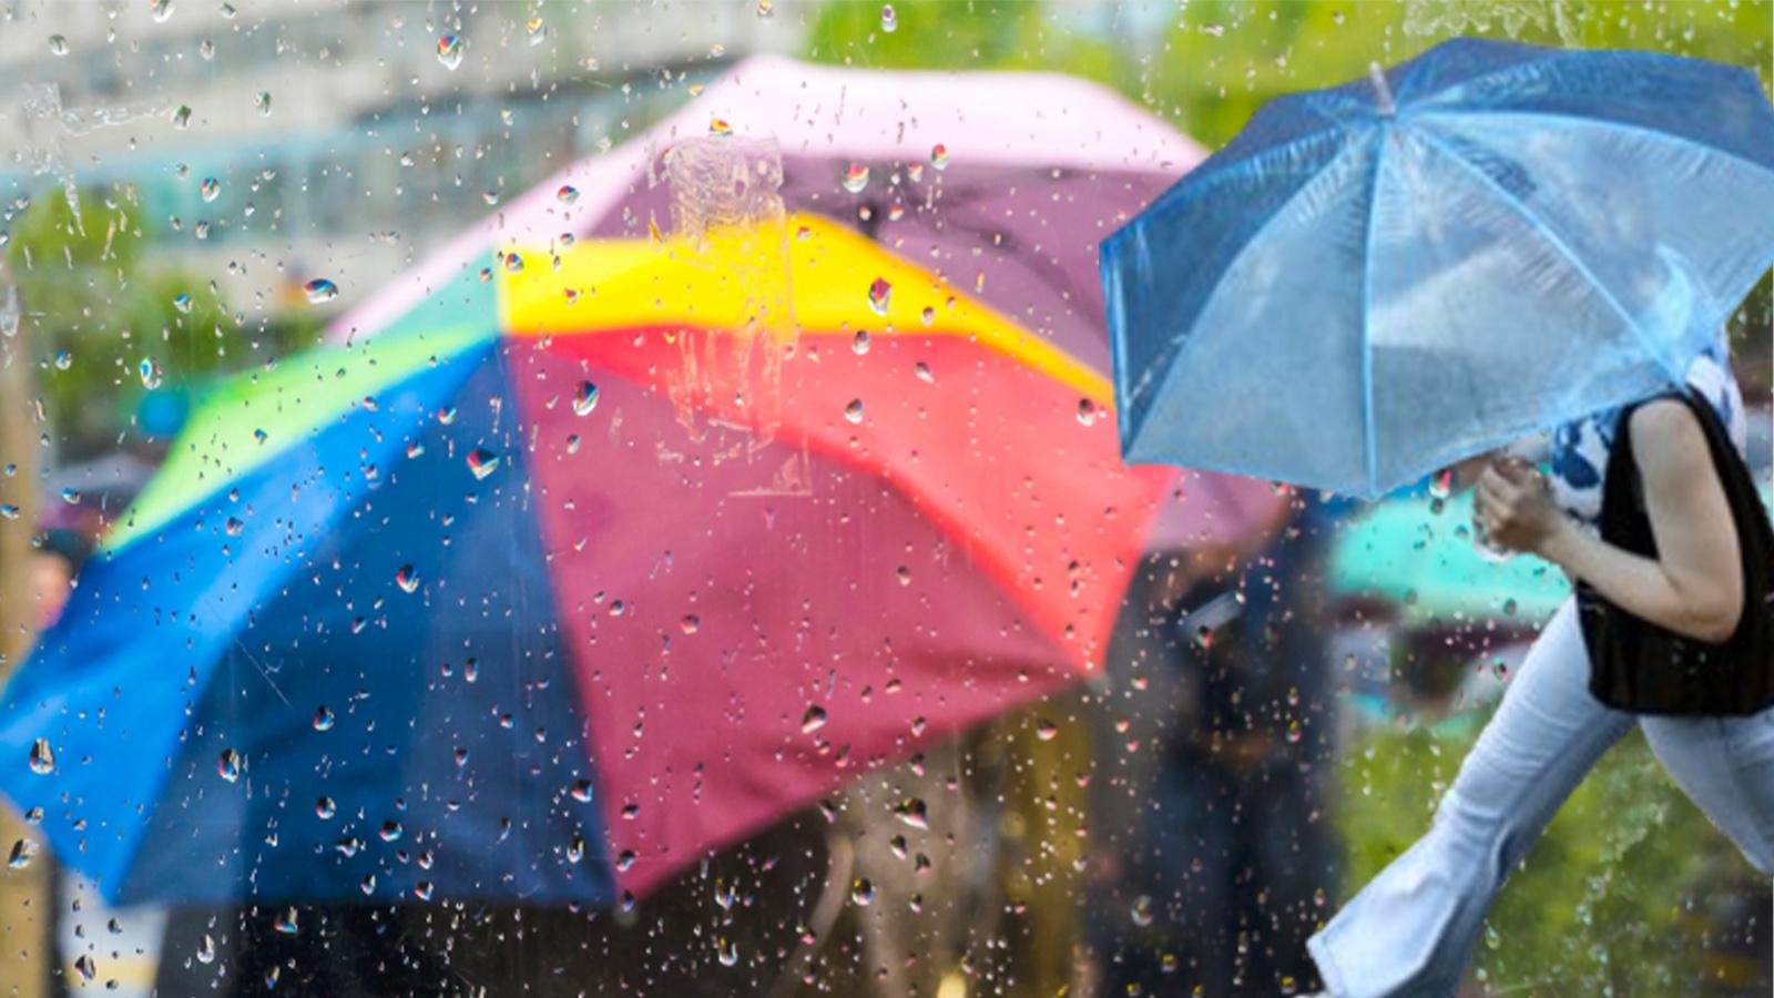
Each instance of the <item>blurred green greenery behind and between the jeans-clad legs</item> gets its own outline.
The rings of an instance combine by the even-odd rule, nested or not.
[[[1428,831],[1481,719],[1467,721],[1451,730],[1366,732],[1348,746],[1334,822],[1350,888]],[[1675,788],[1634,730],[1572,794],[1504,886],[1472,980],[1492,994],[1765,991],[1765,907],[1754,870]],[[1746,916],[1756,918],[1754,943],[1744,938]]]

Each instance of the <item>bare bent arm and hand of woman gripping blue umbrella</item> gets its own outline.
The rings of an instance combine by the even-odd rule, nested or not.
[[[1641,620],[1687,638],[1724,641],[1742,614],[1744,577],[1737,524],[1699,421],[1678,401],[1639,407],[1632,414],[1632,456],[1657,558],[1581,529],[1552,508],[1543,483],[1519,467],[1487,471],[1476,503],[1501,543],[1535,550]]]

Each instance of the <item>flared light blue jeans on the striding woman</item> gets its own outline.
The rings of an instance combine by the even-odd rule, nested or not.
[[[1430,831],[1307,941],[1334,998],[1451,996],[1503,881],[1632,725],[1676,785],[1774,872],[1774,710],[1634,717],[1590,696],[1574,602],[1535,641]]]

